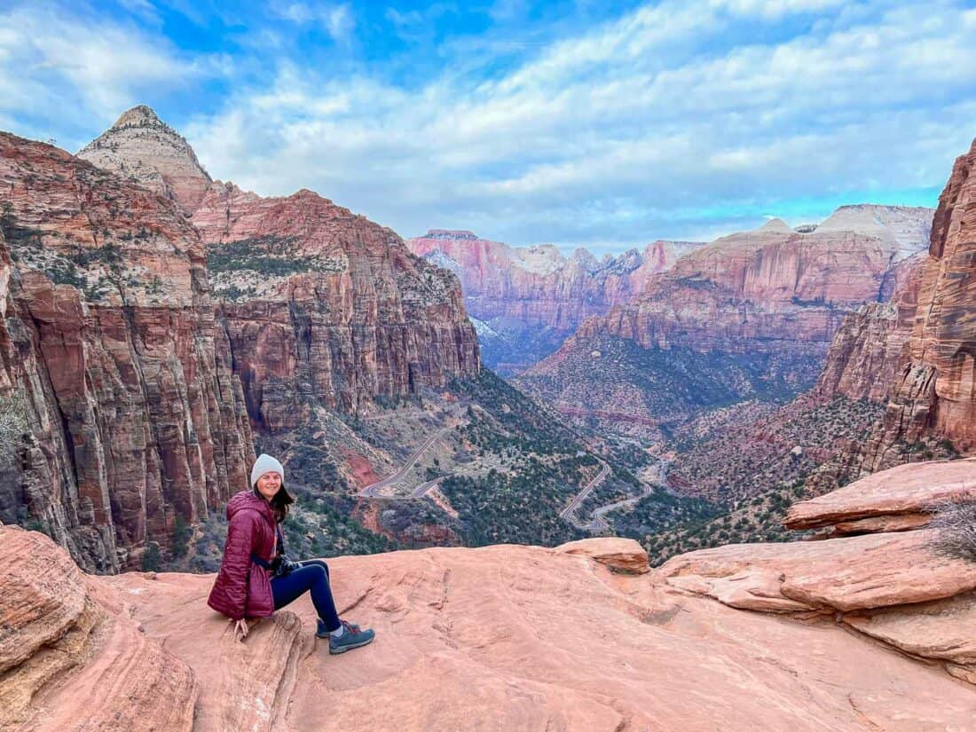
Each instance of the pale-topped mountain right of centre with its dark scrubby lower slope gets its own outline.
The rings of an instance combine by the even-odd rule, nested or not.
[[[816,380],[847,313],[874,304],[865,319],[886,333],[894,310],[878,304],[898,292],[899,311],[908,312],[929,216],[928,209],[849,206],[806,233],[773,220],[717,239],[652,276],[630,303],[585,320],[517,384],[613,431],[633,433],[630,425],[642,420],[650,429],[638,436],[651,439],[659,423],[680,422],[695,409],[795,393]],[[868,360],[873,369],[883,361],[894,371],[901,343],[892,340],[880,354],[872,346],[859,358],[867,340],[860,331],[870,329],[849,330],[848,361],[863,367]],[[825,377],[834,391],[850,379],[844,368]],[[695,385],[691,398],[671,383],[675,375]]]

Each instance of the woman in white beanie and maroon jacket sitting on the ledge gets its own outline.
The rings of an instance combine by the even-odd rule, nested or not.
[[[360,630],[340,620],[329,587],[329,568],[312,559],[292,562],[284,556],[281,522],[294,499],[284,486],[285,468],[262,455],[251,468],[251,489],[227,503],[224,559],[207,604],[224,613],[247,637],[245,618],[266,618],[292,600],[311,593],[318,613],[316,635],[329,638],[329,653],[345,653],[373,640],[373,630]]]

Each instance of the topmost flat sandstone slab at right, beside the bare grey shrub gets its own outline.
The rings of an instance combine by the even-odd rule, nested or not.
[[[793,504],[784,525],[811,529],[857,525],[872,518],[927,522],[926,509],[965,497],[976,498],[976,459],[915,463],[874,473],[832,493]],[[859,525],[863,531],[871,526]],[[880,524],[879,530],[891,529]]]

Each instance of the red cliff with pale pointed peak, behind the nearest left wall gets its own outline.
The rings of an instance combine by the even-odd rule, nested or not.
[[[309,191],[263,198],[214,182],[148,107],[79,153],[174,198],[208,247],[218,319],[263,428],[309,404],[346,412],[480,367],[457,279],[392,230]]]

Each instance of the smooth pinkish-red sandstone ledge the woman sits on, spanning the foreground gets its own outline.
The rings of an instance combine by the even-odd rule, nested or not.
[[[943,482],[943,466],[927,469],[930,484]],[[87,588],[87,601],[115,618],[110,632],[91,634],[91,661],[45,683],[25,671],[46,658],[33,649],[63,625],[66,603],[28,603],[16,578],[0,576],[0,598],[8,585],[20,590],[16,605],[0,604],[0,623],[34,639],[16,644],[29,649],[16,658],[0,656],[13,663],[4,690],[20,695],[14,718],[28,727],[69,712],[81,727],[124,704],[136,729],[140,718],[188,728],[176,717],[192,710],[203,732],[454,732],[472,719],[484,730],[580,732],[967,729],[976,568],[933,554],[928,533],[731,546],[650,572],[624,540],[340,557],[330,566],[341,613],[377,639],[331,657],[312,637],[305,599],[235,642],[204,604],[212,575],[83,578],[45,538],[4,529],[0,560],[29,538],[30,554],[55,567],[48,577],[71,575],[68,587]],[[75,590],[70,612],[85,601]],[[86,697],[70,692],[102,678],[130,615],[156,666],[127,656],[127,685],[107,695],[106,711],[82,706]],[[176,683],[185,667],[195,688]],[[160,674],[173,679],[168,692],[146,694]]]

